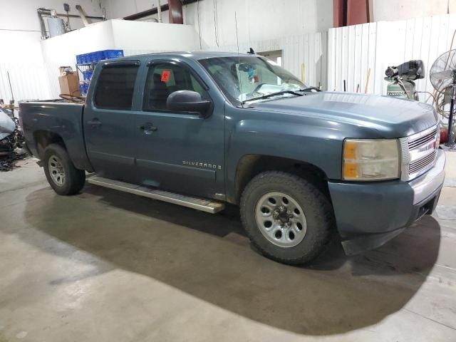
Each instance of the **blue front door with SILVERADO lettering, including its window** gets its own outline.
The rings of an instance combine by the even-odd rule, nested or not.
[[[152,61],[145,68],[137,126],[136,164],[145,185],[179,193],[219,197],[224,193],[224,106],[207,118],[167,109],[167,97],[193,90],[209,97],[198,74],[180,61]]]

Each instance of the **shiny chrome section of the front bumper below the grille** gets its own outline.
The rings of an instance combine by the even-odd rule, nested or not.
[[[435,165],[424,175],[412,180],[409,184],[413,189],[413,204],[423,202],[432,195],[445,180],[445,152],[437,150]]]

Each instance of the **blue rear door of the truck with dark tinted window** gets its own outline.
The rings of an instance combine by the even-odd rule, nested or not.
[[[88,157],[95,172],[128,182],[135,177],[135,120],[133,94],[140,63],[105,63],[95,75],[83,114]]]

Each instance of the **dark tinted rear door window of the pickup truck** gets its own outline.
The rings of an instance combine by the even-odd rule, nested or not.
[[[95,107],[131,110],[138,66],[105,66],[95,88]]]

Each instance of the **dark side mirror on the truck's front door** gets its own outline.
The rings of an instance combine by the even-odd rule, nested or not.
[[[211,106],[211,101],[202,100],[201,95],[192,90],[177,90],[170,93],[166,100],[168,110],[199,113],[203,118],[209,115]]]

